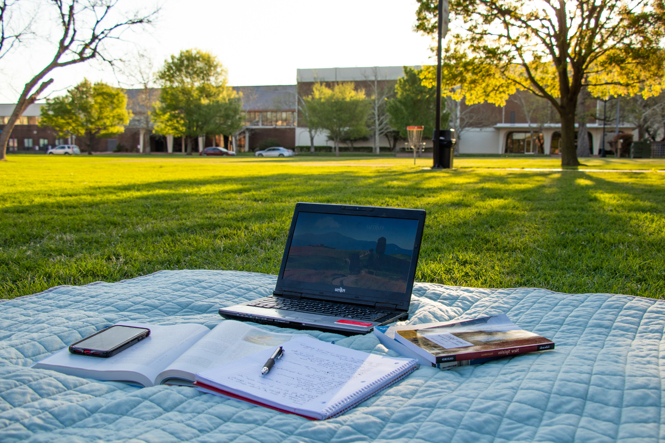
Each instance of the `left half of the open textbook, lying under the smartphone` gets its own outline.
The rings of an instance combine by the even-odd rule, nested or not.
[[[207,327],[196,323],[162,326],[121,321],[117,324],[147,327],[150,329],[150,335],[108,359],[74,355],[69,352],[68,347],[65,347],[33,367],[51,369],[77,377],[134,381],[144,386],[152,386],[164,368],[210,331]]]

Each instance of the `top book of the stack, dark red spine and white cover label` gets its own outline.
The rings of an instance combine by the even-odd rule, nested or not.
[[[521,329],[505,314],[419,326],[396,330],[395,340],[438,367],[554,349],[553,341]]]

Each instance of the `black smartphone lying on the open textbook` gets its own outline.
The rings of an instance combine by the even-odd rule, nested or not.
[[[109,326],[69,345],[72,354],[108,358],[150,335],[150,329],[136,326]]]

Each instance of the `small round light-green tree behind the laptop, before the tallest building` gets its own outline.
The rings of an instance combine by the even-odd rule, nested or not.
[[[370,102],[364,90],[355,90],[352,82],[337,83],[332,88],[316,83],[312,94],[305,98],[310,119],[315,127],[328,132],[339,157],[339,142],[346,134],[366,134]]]

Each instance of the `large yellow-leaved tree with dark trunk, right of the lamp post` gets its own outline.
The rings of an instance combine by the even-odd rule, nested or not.
[[[416,30],[436,33],[437,0],[418,0]],[[575,151],[578,96],[660,93],[665,7],[657,0],[456,0],[446,55],[448,89],[468,104],[503,105],[515,90],[547,99],[561,118],[561,165]],[[436,79],[430,69],[425,76]],[[447,88],[444,88],[446,90]]]

